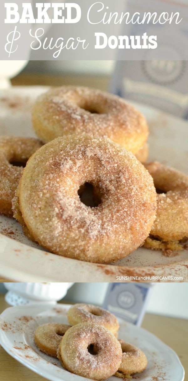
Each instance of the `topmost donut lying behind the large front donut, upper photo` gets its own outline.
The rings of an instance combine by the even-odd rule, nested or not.
[[[148,138],[147,122],[139,111],[118,96],[87,87],[62,86],[40,95],[32,122],[45,143],[86,133],[110,138],[135,154]]]

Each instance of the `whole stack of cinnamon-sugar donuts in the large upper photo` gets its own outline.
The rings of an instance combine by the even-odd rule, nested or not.
[[[62,86],[39,96],[32,121],[40,141],[0,139],[0,212],[13,215],[30,239],[57,255],[94,263],[115,262],[144,242],[183,248],[188,177],[171,172],[184,184],[176,192],[162,166],[163,185],[169,185],[166,195],[156,195],[159,171],[154,176],[152,164],[141,164],[148,126],[139,111],[112,94]],[[24,169],[14,163],[28,158]],[[170,220],[177,207],[183,228],[174,218],[169,229],[166,210]]]

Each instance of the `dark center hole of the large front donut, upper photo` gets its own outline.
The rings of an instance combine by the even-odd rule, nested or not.
[[[78,189],[80,201],[90,208],[96,208],[102,202],[99,188],[89,182],[85,182]]]

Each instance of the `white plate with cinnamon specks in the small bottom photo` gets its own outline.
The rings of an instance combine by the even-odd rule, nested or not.
[[[0,344],[12,357],[51,381],[86,381],[61,367],[59,360],[42,352],[34,343],[34,331],[47,322],[68,323],[69,305],[48,304],[7,308],[0,315]],[[119,338],[140,347],[148,359],[148,366],[137,373],[140,381],[183,381],[184,369],[177,354],[156,336],[131,323],[120,321]],[[110,380],[118,381],[111,377]]]

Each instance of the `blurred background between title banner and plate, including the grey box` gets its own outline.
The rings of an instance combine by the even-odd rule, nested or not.
[[[188,61],[0,61],[0,88],[78,85],[188,119]]]

